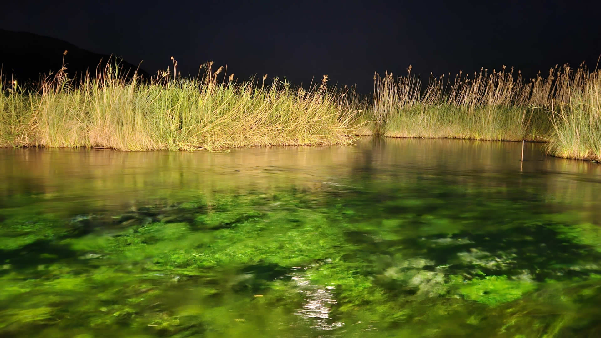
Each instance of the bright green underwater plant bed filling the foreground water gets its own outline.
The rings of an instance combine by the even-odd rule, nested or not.
[[[355,183],[5,209],[0,336],[601,336],[589,221],[535,192]]]

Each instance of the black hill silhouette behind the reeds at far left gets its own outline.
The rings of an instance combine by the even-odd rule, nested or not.
[[[40,75],[56,73],[61,69],[64,51],[68,51],[65,63],[69,76],[81,75],[87,70],[91,75],[96,75],[96,68],[100,60],[102,60],[102,66],[106,66],[109,59],[111,64],[115,63],[115,58],[111,58],[110,55],[96,54],[67,41],[29,32],[0,29],[0,44],[2,45],[0,64],[3,75],[8,78],[14,76],[22,81],[37,81]],[[120,67],[123,67],[123,71],[129,71],[130,75],[138,69],[137,64],[130,64],[121,58],[117,58],[117,60]],[[144,70],[139,69],[138,74],[144,78],[150,78],[150,75]]]

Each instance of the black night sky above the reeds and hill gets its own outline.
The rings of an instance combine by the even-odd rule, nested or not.
[[[182,74],[213,60],[239,79],[328,74],[368,92],[374,70],[400,75],[409,64],[423,77],[503,64],[527,75],[566,62],[594,68],[600,11],[599,1],[10,1],[0,28],[144,60],[149,72],[173,55]]]

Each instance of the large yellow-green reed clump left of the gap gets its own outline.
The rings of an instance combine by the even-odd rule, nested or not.
[[[0,97],[0,145],[118,150],[224,150],[233,147],[345,144],[356,102],[322,84],[305,92],[287,82],[233,81],[207,64],[202,79],[169,72],[126,81],[110,67],[76,82],[59,72],[40,90],[10,85]],[[221,74],[221,76],[220,76]]]

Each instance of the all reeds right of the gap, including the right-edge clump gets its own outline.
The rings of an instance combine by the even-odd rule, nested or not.
[[[543,141],[549,154],[601,159],[601,72],[555,66],[526,81],[513,69],[459,72],[422,84],[374,76],[374,116],[386,137]]]

